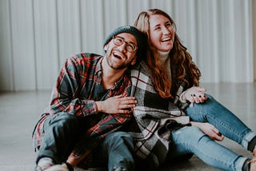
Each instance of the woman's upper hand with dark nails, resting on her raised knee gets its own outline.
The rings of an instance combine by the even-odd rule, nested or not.
[[[193,86],[182,94],[182,100],[190,101],[191,103],[203,103],[207,100],[206,89]]]

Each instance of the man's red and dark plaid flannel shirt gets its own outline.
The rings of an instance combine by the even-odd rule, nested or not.
[[[125,73],[111,89],[102,86],[102,59],[98,54],[78,54],[68,58],[62,67],[54,86],[50,107],[42,113],[33,133],[34,148],[41,145],[44,137],[43,124],[46,117],[65,112],[78,117],[88,117],[89,137],[101,140],[129,121],[130,114],[96,113],[95,101],[122,94],[130,96],[130,74]],[[88,147],[87,147],[88,148]]]

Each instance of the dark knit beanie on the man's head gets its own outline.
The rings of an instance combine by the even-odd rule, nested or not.
[[[134,26],[120,26],[115,29],[109,36],[105,39],[104,46],[111,41],[114,36],[122,33],[132,34],[134,38],[136,38],[138,44],[138,55],[142,56],[142,54],[146,53],[146,36],[142,34],[136,27]]]

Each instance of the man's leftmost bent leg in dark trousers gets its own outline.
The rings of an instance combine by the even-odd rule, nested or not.
[[[68,113],[58,113],[46,119],[44,124],[45,137],[38,151],[37,165],[43,169],[46,158],[52,159],[54,164],[66,161],[71,148],[78,137],[78,119]]]

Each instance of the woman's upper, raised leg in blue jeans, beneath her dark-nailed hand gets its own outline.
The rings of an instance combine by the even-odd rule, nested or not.
[[[234,113],[218,103],[214,97],[207,94],[208,100],[204,103],[194,103],[186,109],[186,114],[193,121],[209,122],[214,125],[224,136],[238,142],[246,149],[250,141],[256,136]],[[255,142],[254,142],[255,145]],[[254,149],[251,145],[250,151]]]

